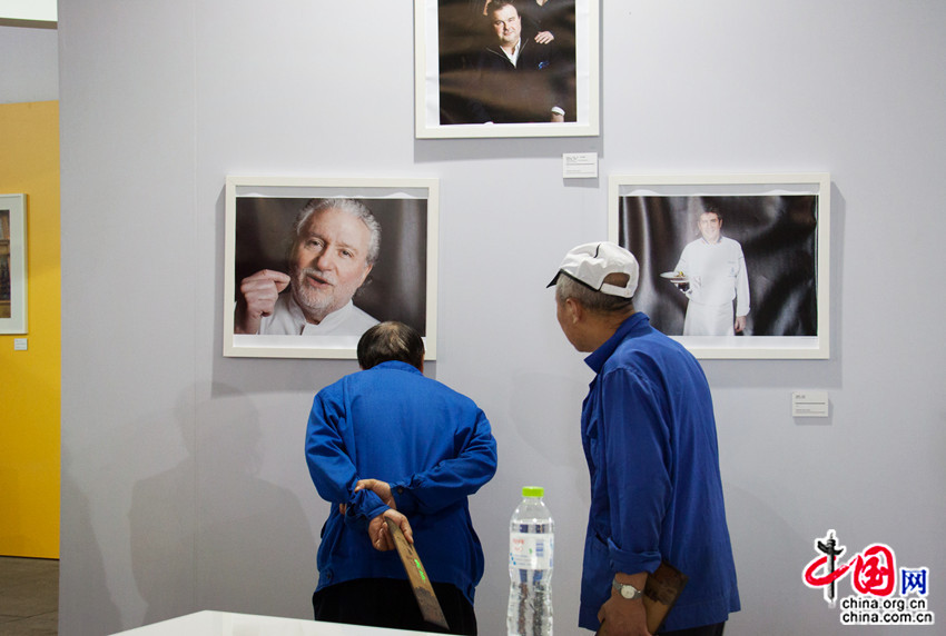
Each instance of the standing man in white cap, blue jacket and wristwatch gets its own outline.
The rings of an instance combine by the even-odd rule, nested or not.
[[[668,562],[689,583],[661,635],[718,636],[739,609],[712,399],[702,368],[634,311],[640,268],[611,242],[565,255],[559,325],[597,376],[582,405],[591,476],[579,626],[646,636],[648,573]]]

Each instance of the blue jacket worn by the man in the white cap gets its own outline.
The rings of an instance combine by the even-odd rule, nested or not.
[[[641,312],[585,362],[598,375],[581,415],[591,511],[579,625],[599,627],[617,572],[653,572],[661,559],[689,576],[664,629],[726,620],[739,592],[702,368]]]

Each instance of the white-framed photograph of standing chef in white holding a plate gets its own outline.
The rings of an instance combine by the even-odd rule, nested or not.
[[[830,177],[611,176],[634,307],[698,358],[829,357]]]

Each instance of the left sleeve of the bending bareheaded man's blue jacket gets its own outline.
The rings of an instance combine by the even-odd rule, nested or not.
[[[345,504],[346,521],[367,524],[387,506],[371,490],[354,491],[358,471],[345,444],[345,405],[341,391],[334,389],[323,389],[313,401],[306,427],[306,463],[318,495],[332,504]]]

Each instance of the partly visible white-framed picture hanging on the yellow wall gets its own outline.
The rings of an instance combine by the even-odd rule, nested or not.
[[[27,332],[26,210],[26,195],[0,195],[0,334]]]

